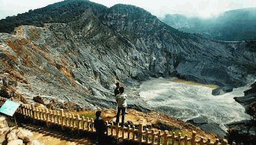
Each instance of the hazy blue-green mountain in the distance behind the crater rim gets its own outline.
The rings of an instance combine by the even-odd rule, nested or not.
[[[255,16],[256,8],[244,8],[226,11],[211,19],[167,14],[160,20],[185,33],[197,33],[205,38],[233,41],[256,39]]]

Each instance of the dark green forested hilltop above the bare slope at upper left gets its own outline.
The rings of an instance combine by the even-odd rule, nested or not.
[[[54,3],[44,8],[29,10],[16,17],[6,17],[0,20],[0,32],[11,33],[14,27],[32,25],[42,27],[44,23],[68,23],[82,17],[84,11],[91,8],[95,15],[106,11],[107,7],[84,0],[66,0]]]

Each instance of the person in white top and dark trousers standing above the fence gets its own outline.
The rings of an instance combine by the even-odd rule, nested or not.
[[[119,94],[116,95],[117,101],[117,114],[116,114],[116,125],[119,123],[120,112],[122,111],[122,123],[121,126],[124,126],[124,116],[127,107],[126,103],[127,95],[124,93],[124,87],[119,88]]]

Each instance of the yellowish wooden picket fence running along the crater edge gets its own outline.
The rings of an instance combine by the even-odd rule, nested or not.
[[[6,98],[0,96],[0,106],[6,101]],[[11,99],[12,100],[12,99]],[[17,109],[19,114],[23,116],[36,119],[38,121],[44,121],[47,126],[52,124],[59,125],[61,128],[70,128],[72,130],[79,131],[86,131],[86,132],[95,132],[95,128],[93,127],[93,118],[92,119],[85,119],[84,116],[82,118],[77,114],[68,114],[64,113],[63,109],[60,111],[52,111],[49,109],[37,109],[33,105],[23,104],[21,103],[20,107]],[[139,125],[139,129],[136,129],[135,126],[128,126],[128,127],[120,127],[119,125],[114,125],[113,122],[108,123],[108,132],[106,135],[115,137],[117,141],[128,140],[133,142],[138,142],[138,144],[184,144],[184,145],[227,145],[228,142],[226,139],[220,141],[220,139],[216,139],[215,142],[211,142],[209,139],[196,139],[196,132],[192,132],[192,137],[189,138],[188,135],[181,137],[181,134],[178,136],[175,135],[173,132],[172,135],[169,134],[168,130],[158,130],[155,132],[154,130],[143,130],[143,125]],[[232,144],[236,144],[232,142]]]

